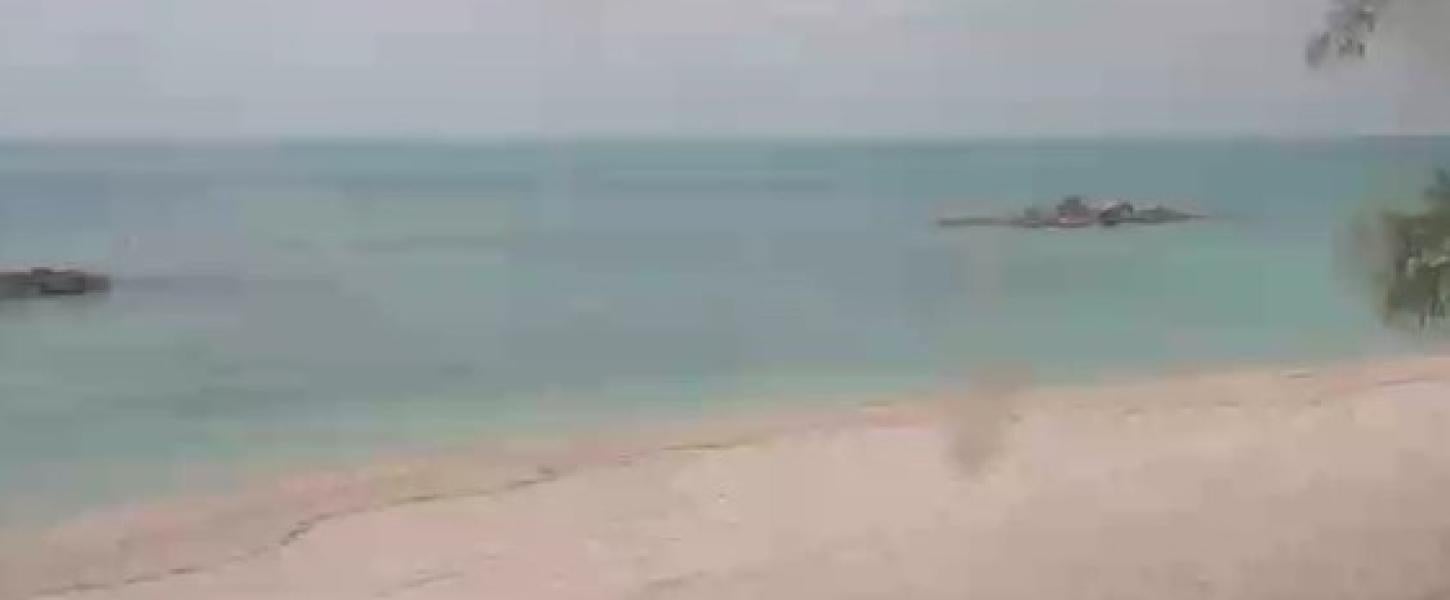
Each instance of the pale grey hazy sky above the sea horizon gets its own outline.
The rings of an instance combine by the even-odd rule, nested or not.
[[[1309,72],[1324,0],[0,0],[0,135],[1447,132],[1402,1]]]

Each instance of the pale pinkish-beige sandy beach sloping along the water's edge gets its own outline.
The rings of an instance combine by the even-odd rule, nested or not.
[[[3,599],[1441,599],[1450,358],[999,386],[312,474],[0,548]]]

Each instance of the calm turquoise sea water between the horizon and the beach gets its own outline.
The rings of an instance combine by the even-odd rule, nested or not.
[[[489,430],[1389,352],[1334,268],[1450,139],[0,145],[0,519]],[[944,230],[1067,193],[1224,219]]]

